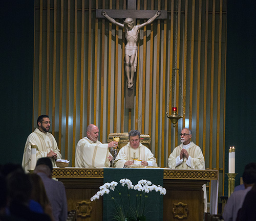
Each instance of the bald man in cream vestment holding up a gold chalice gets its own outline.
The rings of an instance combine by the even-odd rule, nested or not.
[[[112,155],[109,148],[116,148],[118,142],[101,143],[98,141],[99,129],[95,125],[87,127],[87,136],[76,145],[75,167],[102,168],[110,167]]]

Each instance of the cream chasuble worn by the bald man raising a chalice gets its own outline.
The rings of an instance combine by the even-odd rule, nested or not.
[[[110,154],[108,143],[93,142],[88,137],[80,139],[76,145],[75,167],[102,168],[110,167],[107,158]]]

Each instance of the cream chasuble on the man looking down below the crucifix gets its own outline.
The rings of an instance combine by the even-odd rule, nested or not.
[[[114,166],[123,167],[127,160],[143,160],[151,161],[152,166],[157,166],[156,158],[151,153],[150,149],[140,143],[139,147],[134,149],[131,147],[130,142],[123,146],[116,157]]]

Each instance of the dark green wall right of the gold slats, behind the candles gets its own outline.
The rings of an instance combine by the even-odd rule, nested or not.
[[[244,166],[256,162],[256,1],[228,1],[227,10],[225,172],[228,148],[236,146],[239,185]]]

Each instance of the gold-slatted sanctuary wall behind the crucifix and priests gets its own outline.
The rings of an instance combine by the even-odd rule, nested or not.
[[[38,115],[50,115],[62,158],[72,166],[88,124],[99,127],[102,142],[109,133],[131,129],[150,134],[161,167],[180,143],[182,127],[189,127],[206,168],[219,170],[222,194],[227,1],[137,1],[137,9],[167,11],[167,19],[156,19],[140,30],[134,108],[126,109],[124,33],[97,18],[96,9],[126,9],[129,2],[35,1],[32,125],[36,127]],[[176,59],[176,106],[179,115],[185,114],[173,128],[165,113]],[[183,105],[179,88],[184,91]],[[169,114],[173,104],[170,99]]]

